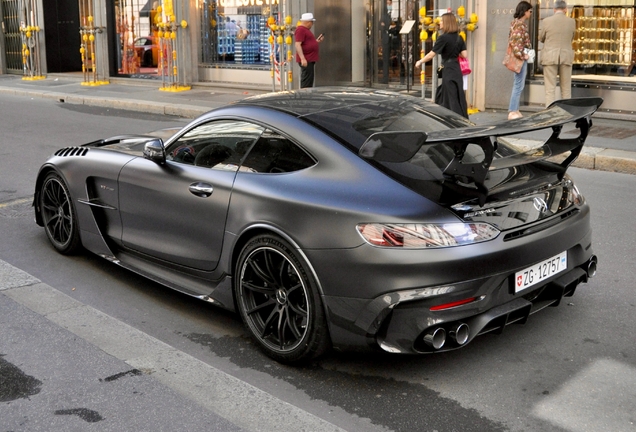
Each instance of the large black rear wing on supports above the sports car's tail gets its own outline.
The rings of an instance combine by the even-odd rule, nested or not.
[[[443,169],[444,177],[454,182],[474,184],[476,195],[483,204],[488,196],[484,181],[489,171],[535,163],[570,152],[561,163],[552,165],[559,178],[562,178],[581,153],[587,134],[592,127],[592,114],[602,103],[603,99],[596,97],[564,99],[526,117],[487,125],[428,133],[422,131],[377,132],[360,147],[359,155],[379,162],[406,162],[424,146],[447,145],[453,149],[455,156]],[[561,138],[563,125],[572,122],[576,123],[579,136]],[[549,128],[552,129],[552,135],[540,147],[493,160],[497,149],[497,138]],[[483,160],[472,163],[463,161],[466,148],[471,144],[482,148]]]

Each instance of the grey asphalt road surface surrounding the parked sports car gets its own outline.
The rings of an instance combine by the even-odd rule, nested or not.
[[[2,399],[0,390],[0,430],[139,430],[145,421],[147,430],[203,430],[205,425],[267,430],[252,421],[264,417],[268,422],[261,425],[278,420],[280,430],[293,430],[302,421],[348,431],[636,431],[631,202],[636,176],[571,170],[592,205],[599,275],[559,307],[455,352],[424,357],[330,353],[292,368],[255,349],[237,316],[95,256],[63,257],[48,245],[33,223],[30,198],[37,169],[49,154],[99,137],[185,123],[81,109],[89,112],[47,100],[0,99],[0,260],[52,287],[50,295],[68,296],[111,324],[72,333],[0,294],[0,378],[18,377],[25,385],[17,399]],[[44,294],[33,301],[45,303]],[[66,319],[65,328],[72,328],[79,317]],[[146,338],[169,347],[177,359],[170,374],[177,381],[192,383],[195,374],[201,382],[195,378],[190,387],[206,390],[206,377],[213,376],[228,380],[225,389],[237,389],[240,397],[209,393],[205,402],[205,392],[171,384],[166,374],[124,368],[99,342],[105,332],[115,332],[111,327],[123,328],[119,334],[125,339]],[[78,340],[77,334],[83,337]],[[51,353],[56,355],[42,358]],[[47,368],[38,366],[47,362]],[[100,385],[106,378],[117,387],[106,392]],[[33,380],[55,385],[46,401],[29,394],[37,387]],[[250,390],[242,394],[240,389]],[[256,395],[251,403],[227,408],[227,401],[247,401],[250,395]],[[129,400],[134,403],[124,403]],[[37,404],[37,414],[31,404]],[[281,415],[286,409],[294,415]],[[68,416],[74,422],[65,422]],[[6,419],[11,423],[3,424]],[[57,423],[47,423],[52,419]]]

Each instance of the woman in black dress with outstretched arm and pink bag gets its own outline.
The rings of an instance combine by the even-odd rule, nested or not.
[[[442,15],[439,28],[444,34],[437,38],[433,49],[415,63],[415,67],[419,68],[437,54],[441,54],[444,71],[442,72],[442,85],[437,88],[435,93],[435,102],[468,118],[464,81],[457,61],[457,57],[460,55],[468,58],[466,42],[458,34],[459,26],[452,13]]]

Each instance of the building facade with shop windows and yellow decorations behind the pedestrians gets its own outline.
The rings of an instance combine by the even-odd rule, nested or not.
[[[602,110],[636,113],[636,0],[571,0],[576,19],[572,95],[601,96]],[[537,61],[522,104],[542,106],[538,30],[554,0],[532,0]],[[434,94],[432,71],[413,65],[431,49],[435,18],[462,23],[472,66],[467,98],[506,109],[512,73],[502,65],[516,2],[509,0],[0,0],[2,73],[26,78],[81,72],[96,85],[113,77],[156,79],[187,89],[209,82],[274,91],[298,88],[293,30],[312,12],[325,34],[316,85],[354,85]],[[158,84],[159,85],[159,84]]]

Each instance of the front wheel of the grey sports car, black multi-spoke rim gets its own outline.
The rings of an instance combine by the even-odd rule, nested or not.
[[[72,255],[82,247],[75,207],[64,180],[55,172],[44,178],[39,195],[40,216],[46,236],[61,254]]]

